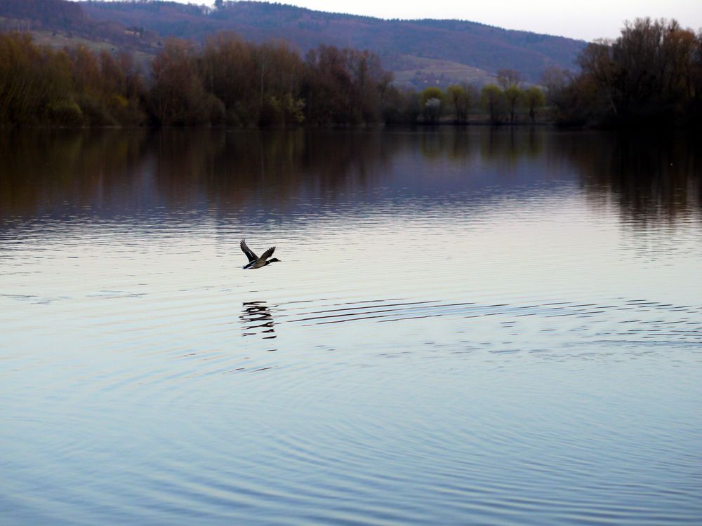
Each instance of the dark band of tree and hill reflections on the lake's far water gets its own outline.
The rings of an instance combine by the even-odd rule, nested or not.
[[[425,161],[479,163],[478,180],[392,177],[419,153]],[[272,217],[310,199],[373,201],[467,188],[573,179],[623,220],[644,227],[700,210],[702,142],[695,135],[553,130],[325,133],[173,130],[25,131],[0,136],[0,217],[22,220],[158,215],[187,208]],[[529,162],[537,161],[536,166]],[[544,173],[543,165],[548,166]],[[477,171],[477,170],[474,170]],[[485,177],[487,173],[487,177]],[[493,176],[497,177],[493,177]],[[352,194],[352,197],[349,195]],[[253,203],[253,204],[252,204]]]

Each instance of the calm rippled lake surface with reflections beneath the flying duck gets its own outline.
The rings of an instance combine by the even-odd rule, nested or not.
[[[4,525],[702,522],[700,137],[24,130],[0,159]]]

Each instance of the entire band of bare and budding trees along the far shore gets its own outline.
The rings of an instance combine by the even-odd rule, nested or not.
[[[20,126],[353,126],[535,123],[695,126],[702,117],[702,33],[677,22],[627,23],[590,43],[580,71],[548,69],[542,86],[501,69],[486,86],[417,93],[394,86],[378,55],[232,33],[171,39],[141,69],[127,53],[55,50],[0,34],[0,124]]]

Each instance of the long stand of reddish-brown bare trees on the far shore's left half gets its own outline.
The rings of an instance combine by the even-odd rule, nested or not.
[[[132,55],[53,50],[0,34],[0,123],[54,126],[263,126],[383,121],[392,76],[369,51],[230,33],[171,39],[144,75]]]

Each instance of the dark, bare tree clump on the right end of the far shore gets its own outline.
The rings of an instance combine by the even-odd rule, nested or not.
[[[675,20],[626,22],[614,40],[588,44],[580,71],[545,72],[555,120],[598,126],[700,126],[702,30]]]

